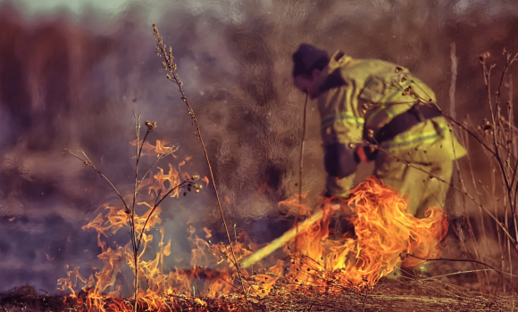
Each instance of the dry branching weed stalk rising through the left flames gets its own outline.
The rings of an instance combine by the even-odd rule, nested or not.
[[[142,185],[142,182],[146,179],[147,174],[151,171],[152,168],[155,167],[156,163],[159,160],[163,160],[166,156],[171,155],[173,152],[178,151],[179,146],[178,145],[176,145],[176,146],[173,146],[173,145],[168,146],[165,149],[165,151],[163,151],[161,154],[157,155],[156,160],[151,164],[151,166],[149,166],[146,169],[144,175],[139,178],[138,177],[138,167],[139,167],[140,158],[142,156],[142,147],[146,143],[147,135],[149,135],[151,132],[153,132],[155,130],[156,122],[146,121],[146,127],[147,127],[146,135],[144,135],[144,138],[142,139],[142,142],[141,142],[140,141],[140,123],[141,123],[141,120],[142,120],[142,115],[139,114],[138,116],[136,116],[134,114],[134,118],[135,118],[135,132],[136,132],[135,136],[136,136],[136,139],[137,139],[137,141],[136,141],[137,142],[137,144],[136,144],[136,146],[137,146],[137,153],[136,153],[137,154],[137,159],[136,159],[136,164],[135,164],[135,183],[133,184],[133,194],[132,194],[132,201],[131,201],[130,205],[124,200],[124,197],[121,195],[121,193],[119,192],[117,187],[115,185],[113,185],[113,183],[110,181],[110,179],[108,177],[104,176],[103,172],[99,168],[97,168],[96,165],[94,165],[93,161],[88,158],[88,155],[85,152],[81,151],[81,153],[84,156],[84,158],[83,158],[83,157],[79,156],[78,154],[76,154],[75,152],[72,152],[68,148],[65,148],[65,151],[69,155],[71,155],[71,156],[81,160],[86,166],[89,166],[89,167],[93,168],[94,170],[96,170],[96,172],[101,177],[103,177],[104,180],[106,180],[106,182],[108,182],[112,186],[113,191],[115,193],[117,193],[117,195],[119,196],[119,198],[122,201],[122,204],[124,205],[124,212],[126,213],[126,217],[128,218],[128,222],[129,222],[129,228],[130,228],[130,233],[129,234],[130,234],[130,237],[131,237],[131,247],[132,247],[132,251],[133,251],[133,254],[132,254],[133,265],[135,267],[135,270],[134,270],[134,274],[135,274],[135,282],[134,282],[134,300],[135,300],[135,305],[134,305],[134,311],[137,312],[137,310],[138,310],[138,290],[139,290],[139,284],[138,284],[138,259],[139,259],[139,254],[138,254],[138,252],[140,251],[140,244],[142,242],[143,235],[146,233],[146,226],[147,226],[147,223],[148,223],[149,219],[153,216],[153,214],[155,212],[155,209],[172,192],[174,192],[174,191],[176,191],[178,189],[186,189],[186,190],[188,190],[188,192],[190,192],[191,186],[192,186],[195,189],[195,193],[199,193],[199,190],[203,188],[203,185],[197,185],[194,181],[198,180],[199,176],[193,176],[193,177],[190,177],[189,179],[181,182],[179,185],[174,185],[174,186],[171,185],[171,189],[167,193],[165,193],[163,195],[161,193],[161,190],[159,190],[157,192],[157,194],[156,194],[155,203],[154,203],[153,207],[151,208],[149,214],[146,217],[146,220],[144,222],[144,226],[142,226],[142,229],[140,231],[138,231],[137,224],[135,222],[135,218],[136,218],[135,208],[137,206],[137,197],[138,197],[138,191],[140,189],[140,186]]]

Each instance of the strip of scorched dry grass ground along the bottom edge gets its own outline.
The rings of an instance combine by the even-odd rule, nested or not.
[[[516,296],[494,296],[438,280],[383,279],[371,291],[363,293],[341,291],[329,293],[300,287],[274,291],[259,298],[249,295],[229,294],[219,298],[198,300],[186,296],[174,296],[174,305],[164,311],[514,311]],[[200,300],[205,302],[204,305]],[[106,299],[106,311],[112,311],[113,303],[132,310],[129,300]],[[93,309],[96,311],[97,309]],[[139,311],[151,311],[146,304],[139,304]],[[87,306],[65,295],[49,295],[23,285],[0,293],[2,312],[50,312],[88,311]]]

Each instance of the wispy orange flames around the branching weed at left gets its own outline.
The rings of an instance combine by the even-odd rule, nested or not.
[[[132,143],[136,145],[136,141]],[[156,141],[156,145],[144,144],[142,151],[146,154],[160,154],[166,152],[171,147],[165,146],[161,141]],[[149,259],[150,242],[153,241],[154,235],[149,234],[149,230],[162,223],[160,215],[160,207],[153,212],[155,198],[161,193],[165,194],[172,186],[180,184],[180,175],[190,177],[187,173],[180,170],[185,164],[185,160],[180,162],[178,170],[169,164],[168,173],[164,173],[163,168],[157,168],[155,175],[150,175],[140,185],[141,189],[146,188],[147,193],[143,193],[141,197],[145,197],[145,201],[138,201],[138,206],[146,207],[146,211],[141,215],[135,216],[135,230],[137,234],[142,233],[142,246],[138,253],[138,281],[140,285],[144,285],[138,291],[138,300],[147,308],[154,310],[163,310],[172,303],[171,297],[164,297],[164,293],[172,293],[181,288],[177,282],[184,274],[177,270],[176,273],[164,274],[163,259],[171,255],[171,240],[164,242],[165,230],[160,228],[161,240],[158,242],[159,250],[156,250],[152,259]],[[171,193],[171,196],[178,197],[179,191]],[[131,194],[124,196],[130,202]],[[97,233],[97,245],[102,252],[97,256],[103,261],[102,268],[97,269],[96,273],[88,278],[79,273],[79,267],[68,272],[66,278],[58,280],[58,289],[69,291],[70,297],[79,301],[79,304],[85,304],[88,311],[131,311],[132,307],[128,300],[119,298],[121,295],[121,284],[117,284],[117,277],[121,276],[123,267],[134,271],[132,245],[128,242],[125,246],[119,246],[114,242],[114,246],[108,246],[104,242],[103,237],[109,237],[111,234],[117,233],[126,227],[129,230],[129,215],[126,209],[121,206],[105,203],[101,206],[103,211],[97,214],[96,218],[83,226],[83,230],[94,229]],[[150,217],[147,220],[146,219]],[[146,228],[144,227],[146,225]],[[187,275],[186,275],[187,276]],[[187,280],[186,280],[187,281]],[[79,284],[82,284],[81,291],[78,292]],[[188,286],[187,282],[183,285]]]

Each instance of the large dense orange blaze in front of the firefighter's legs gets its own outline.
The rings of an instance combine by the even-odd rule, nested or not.
[[[343,234],[330,239],[330,200],[323,202],[326,218],[309,231],[297,236],[294,244],[308,259],[323,269],[355,285],[372,286],[398,267],[414,267],[422,262],[402,259],[405,252],[422,259],[438,257],[438,244],[447,231],[443,210],[430,207],[427,218],[418,219],[406,213],[407,201],[397,191],[383,185],[375,177],[368,178],[351,191],[340,209],[354,225],[355,236]],[[300,276],[305,283],[313,277]]]

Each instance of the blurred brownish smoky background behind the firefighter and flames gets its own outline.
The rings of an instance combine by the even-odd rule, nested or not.
[[[291,53],[299,44],[397,62],[436,91],[439,106],[459,119],[469,114],[476,125],[489,116],[478,56],[489,52],[497,64],[496,90],[504,48],[518,52],[511,0],[0,0],[0,291],[30,283],[54,293],[67,266],[85,275],[99,266],[96,233],[80,227],[116,198],[64,147],[83,149],[129,192],[134,111],[157,122],[151,143],[180,144],[179,157],[159,167],[189,159],[182,169],[208,176],[187,107],[155,54],[152,22],[196,111],[227,222],[255,242],[291,226],[278,202],[297,192],[305,96],[292,86]],[[505,92],[506,100],[512,92]],[[315,105],[308,104],[303,175],[311,199],[325,177]],[[487,158],[476,146],[470,152],[474,179],[486,183]],[[363,167],[358,181],[370,170]],[[452,218],[479,211],[457,204],[450,196]],[[164,201],[161,217],[173,242],[171,267],[188,265],[189,219],[223,240],[210,187]],[[484,245],[490,259],[497,251]]]

